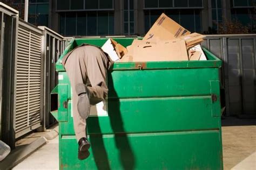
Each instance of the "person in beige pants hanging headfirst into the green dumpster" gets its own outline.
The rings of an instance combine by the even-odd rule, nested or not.
[[[78,159],[89,157],[90,143],[86,138],[86,118],[90,104],[95,105],[107,96],[106,74],[113,61],[101,48],[83,44],[66,54],[62,64],[72,88],[73,124],[78,142]]]

